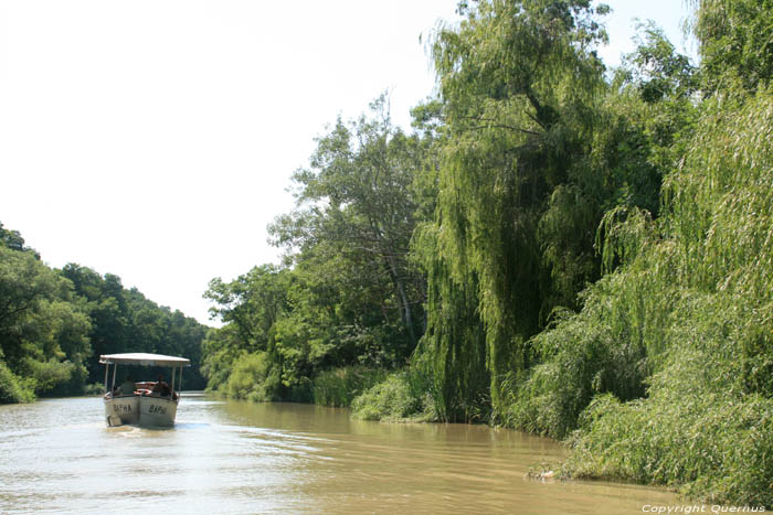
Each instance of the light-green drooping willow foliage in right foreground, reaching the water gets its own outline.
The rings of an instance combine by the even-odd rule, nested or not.
[[[664,216],[608,230],[625,265],[534,339],[544,363],[510,421],[579,428],[571,473],[773,502],[772,93],[702,106]]]

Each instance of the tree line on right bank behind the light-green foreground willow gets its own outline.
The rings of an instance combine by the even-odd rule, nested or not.
[[[699,71],[652,24],[604,66],[607,12],[462,2],[432,40],[440,95],[410,133],[386,94],[329,126],[268,227],[284,261],[210,282],[224,322],[204,342],[210,388],[311,399],[332,369],[407,367],[434,417],[501,419],[542,361],[534,336],[602,278],[600,238],[659,217],[698,112]]]

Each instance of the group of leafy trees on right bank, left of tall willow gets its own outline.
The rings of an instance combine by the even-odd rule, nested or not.
[[[335,405],[371,386],[358,371],[406,364],[424,330],[425,279],[410,240],[436,199],[435,107],[417,115],[422,133],[406,136],[381,96],[369,116],[339,119],[317,139],[294,175],[296,208],[269,227],[286,267],[210,282],[205,297],[226,324],[204,343],[210,390],[223,391],[242,352],[265,353],[278,398]]]

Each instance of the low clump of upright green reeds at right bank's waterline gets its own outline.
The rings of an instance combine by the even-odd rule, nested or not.
[[[386,372],[363,366],[346,366],[319,373],[313,382],[314,403],[348,408],[352,400],[386,378]]]

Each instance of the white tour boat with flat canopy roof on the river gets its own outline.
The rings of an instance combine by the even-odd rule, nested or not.
[[[174,426],[177,406],[180,403],[182,368],[191,366],[190,360],[162,354],[126,353],[103,354],[99,363],[105,367],[105,419],[108,427],[134,425],[141,427]],[[171,385],[160,377],[157,382],[126,380],[116,385],[118,365],[161,366],[172,369]],[[113,382],[108,387],[113,366]],[[178,373],[179,372],[179,373]],[[129,379],[127,377],[127,379]],[[177,390],[174,385],[177,383]]]

